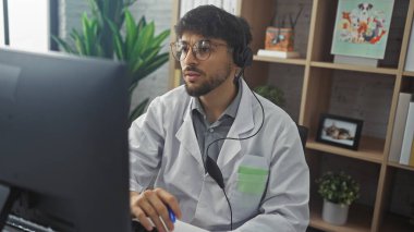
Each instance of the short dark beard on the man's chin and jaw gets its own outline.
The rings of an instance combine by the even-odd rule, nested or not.
[[[192,70],[192,69],[190,69]],[[196,70],[194,70],[196,71]],[[211,76],[211,78],[207,80],[206,82],[202,83],[200,86],[193,86],[190,87],[188,84],[185,82],[185,89],[187,94],[192,97],[200,97],[204,95],[207,95],[212,89],[220,86],[223,82],[226,82],[227,78],[229,78],[231,72],[230,64],[226,69],[226,73],[218,73],[215,76]]]

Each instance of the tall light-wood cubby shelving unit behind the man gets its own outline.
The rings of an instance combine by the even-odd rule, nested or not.
[[[235,0],[238,1],[238,15],[243,16],[252,26],[253,44],[252,49],[257,53],[258,49],[264,47],[266,26],[271,22],[275,10],[278,8],[278,1],[273,0]],[[303,2],[292,0],[292,2]],[[398,48],[398,59],[387,65],[380,64],[378,68],[349,65],[333,63],[333,56],[330,53],[330,47],[333,35],[333,24],[339,0],[313,0],[312,10],[309,11],[309,33],[307,38],[307,47],[305,54],[299,59],[277,59],[269,57],[254,56],[253,65],[246,69],[246,82],[255,87],[257,85],[266,84],[273,74],[269,73],[269,68],[277,64],[299,69],[303,73],[302,93],[300,97],[300,115],[299,124],[305,125],[309,129],[309,138],[306,144],[306,160],[308,161],[310,178],[315,180],[320,174],[321,158],[322,156],[332,157],[332,159],[344,157],[345,159],[355,160],[360,162],[367,162],[378,167],[378,172],[375,173],[373,183],[376,184],[376,194],[374,204],[370,206],[352,205],[350,208],[349,222],[342,227],[328,224],[321,220],[321,202],[320,197],[315,196],[310,198],[310,224],[309,227],[324,231],[338,231],[338,232],[354,232],[354,231],[414,231],[413,227],[409,224],[407,219],[404,217],[390,213],[390,195],[393,186],[393,173],[395,170],[404,170],[412,172],[413,167],[401,166],[388,161],[388,154],[391,143],[392,127],[394,123],[394,115],[397,110],[398,97],[400,91],[413,89],[414,86],[414,72],[404,71],[404,62],[407,51],[410,39],[410,29],[413,23],[414,15],[414,0],[394,0],[394,4],[403,5],[403,23],[398,25],[401,40],[394,47]],[[180,1],[173,1],[173,9],[175,17],[172,25],[178,21]],[[395,9],[395,7],[394,7]],[[401,14],[401,12],[399,12]],[[401,25],[404,24],[404,25]],[[392,24],[391,24],[392,27]],[[387,53],[386,53],[387,57]],[[179,69],[178,63],[171,60],[171,80],[180,78],[175,70]],[[329,111],[330,96],[332,86],[332,76],[336,72],[363,73],[369,78],[383,78],[390,77],[393,82],[393,89],[391,99],[389,99],[390,107],[388,117],[388,124],[386,126],[386,135],[382,138],[375,138],[369,136],[362,136],[360,148],[357,150],[350,150],[338,148],[334,146],[321,144],[315,141],[317,132],[319,115],[322,112]],[[175,81],[176,83],[176,81]],[[378,102],[383,103],[383,102]],[[346,115],[344,115],[346,117]],[[369,119],[368,119],[369,120]],[[312,195],[315,195],[315,183],[312,183]]]

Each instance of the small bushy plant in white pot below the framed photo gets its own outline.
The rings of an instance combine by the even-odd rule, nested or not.
[[[331,171],[324,173],[316,183],[324,198],[322,219],[331,224],[344,224],[350,205],[360,197],[358,183],[344,172]]]

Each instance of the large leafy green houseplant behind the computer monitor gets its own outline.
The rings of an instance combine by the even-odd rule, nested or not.
[[[92,15],[83,14],[82,30],[72,29],[69,41],[52,36],[69,53],[124,61],[131,77],[130,96],[141,80],[169,59],[168,52],[161,52],[161,49],[170,30],[155,35],[154,22],[147,23],[145,16],[136,23],[127,10],[134,2],[89,0]],[[131,110],[130,122],[144,112],[148,100],[143,100]]]

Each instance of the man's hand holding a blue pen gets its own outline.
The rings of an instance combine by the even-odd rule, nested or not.
[[[167,207],[181,219],[181,210],[176,198],[162,188],[146,190],[141,194],[131,192],[130,194],[131,212],[136,217],[146,230],[151,231],[153,225],[147,219],[149,217],[159,232],[165,232],[160,220],[162,218],[167,228],[172,231],[174,224],[170,220]]]

